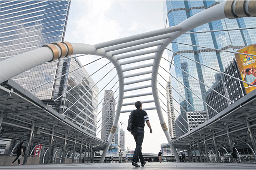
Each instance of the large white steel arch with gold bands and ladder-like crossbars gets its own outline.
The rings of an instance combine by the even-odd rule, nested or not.
[[[148,33],[142,33],[138,35],[133,35],[130,37],[125,37],[117,40],[112,40],[109,42],[103,42],[100,44],[90,45],[82,43],[69,43],[69,42],[58,42],[53,44],[48,44],[40,49],[35,49],[33,51],[26,52],[24,54],[19,54],[12,58],[0,62],[0,83],[19,75],[21,72],[29,70],[37,65],[43,64],[48,61],[57,60],[70,56],[71,54],[92,54],[97,56],[102,56],[107,58],[116,68],[118,77],[119,77],[119,101],[116,109],[116,116],[114,119],[113,126],[111,128],[111,133],[108,137],[108,142],[111,142],[111,139],[114,136],[116,131],[116,126],[119,121],[120,113],[130,112],[131,110],[122,111],[122,106],[133,105],[133,103],[124,103],[123,99],[125,98],[135,98],[138,96],[153,95],[154,100],[142,101],[142,102],[154,102],[155,107],[145,108],[145,110],[156,109],[159,116],[159,121],[161,127],[166,135],[168,143],[173,151],[173,154],[177,161],[179,161],[178,153],[175,147],[171,144],[171,137],[168,133],[166,123],[164,121],[163,114],[161,112],[161,106],[158,97],[157,91],[157,75],[159,70],[159,64],[161,61],[161,56],[165,48],[173,40],[175,40],[180,35],[186,33],[189,30],[192,30],[198,26],[201,26],[205,23],[216,21],[224,18],[239,18],[247,16],[256,16],[256,2],[255,1],[227,1],[215,5],[209,9],[206,9],[198,14],[186,19],[178,26],[173,26],[169,28],[164,28],[160,30],[154,30]],[[154,49],[144,50],[136,52],[137,50],[146,49],[149,47],[155,47]],[[134,52],[135,51],[135,52]],[[127,52],[132,52],[130,54],[125,54]],[[124,58],[130,58],[135,56],[141,56],[145,54],[152,54],[151,56],[132,59],[129,61],[120,62],[119,60]],[[122,68],[122,65],[136,63],[139,61],[146,61],[153,59],[152,63]],[[123,72],[129,70],[136,70],[140,68],[152,67],[151,71],[137,72],[131,75],[123,75]],[[129,77],[136,77],[139,75],[150,74],[151,77],[145,79],[135,79],[131,82],[124,83],[124,79]],[[145,82],[151,80],[151,84],[146,86],[140,86],[136,88],[125,89],[125,85],[135,84],[138,82]],[[125,91],[133,91],[142,88],[152,87],[151,93],[137,94],[124,96]],[[107,154],[109,146],[104,149],[100,162],[104,161],[104,158]]]

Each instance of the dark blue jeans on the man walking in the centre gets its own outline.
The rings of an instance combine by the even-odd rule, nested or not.
[[[145,163],[145,161],[141,153],[141,145],[144,138],[144,129],[133,129],[132,132],[134,140],[136,142],[136,148],[133,154],[133,161],[137,163],[140,158],[140,163],[143,164]]]

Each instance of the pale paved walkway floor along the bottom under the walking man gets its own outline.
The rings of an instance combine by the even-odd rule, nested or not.
[[[140,163],[139,163],[140,165]],[[81,169],[81,170],[120,170],[120,169],[152,169],[152,170],[234,170],[234,169],[256,169],[256,164],[244,163],[147,163],[145,167],[135,168],[131,163],[89,163],[89,164],[50,164],[50,165],[14,165],[14,166],[1,166],[0,169],[33,169],[33,170],[67,170],[67,169]]]

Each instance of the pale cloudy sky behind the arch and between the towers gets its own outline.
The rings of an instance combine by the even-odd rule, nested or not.
[[[68,42],[79,42],[85,44],[97,44],[101,42],[106,42],[109,40],[115,40],[122,37],[127,37],[131,35],[136,35],[140,33],[149,32],[152,30],[157,30],[165,27],[166,16],[163,16],[163,1],[113,1],[113,0],[84,0],[84,1],[71,1],[71,7],[69,11],[69,18],[66,27],[65,41]],[[167,52],[163,54],[164,58],[168,58]],[[89,63],[92,60],[99,58],[99,56],[82,56],[79,60],[82,64]],[[101,59],[97,63],[93,63],[85,67],[89,74],[95,72],[98,68],[102,67],[104,64],[108,63],[107,59]],[[152,62],[152,61],[147,61]],[[143,64],[145,64],[144,62]],[[142,63],[137,63],[140,65]],[[136,64],[135,64],[136,65]],[[161,60],[161,66],[168,70],[168,62]],[[102,72],[95,74],[92,79],[97,82],[100,80],[102,75],[106,74],[114,66],[110,63]],[[124,67],[125,68],[125,67]],[[145,71],[147,68],[145,68]],[[160,69],[159,69],[160,70]],[[127,72],[126,74],[135,73],[134,71]],[[166,80],[169,79],[169,75],[161,71],[161,75],[165,77]],[[102,81],[97,84],[101,90],[110,79],[116,75],[115,69],[110,72],[110,75],[106,76]],[[146,78],[148,75],[145,75]],[[160,83],[166,87],[166,82],[158,78]],[[131,81],[132,78],[126,80]],[[117,77],[104,89],[109,90],[115,82],[118,81]],[[150,82],[143,82],[140,86],[146,85]],[[159,85],[158,85],[159,86]],[[114,86],[114,90],[118,87],[118,83]],[[126,88],[131,88],[133,86],[127,86]],[[159,86],[161,92],[166,95],[166,91]],[[103,98],[104,90],[99,95],[99,102]],[[114,91],[113,90],[113,91]],[[132,95],[138,91],[127,92],[124,95]],[[151,92],[151,88],[146,88],[140,90],[140,92],[147,93]],[[118,95],[118,91],[115,93],[115,97]],[[159,94],[161,95],[161,94]],[[160,98],[165,102],[166,100],[160,96]],[[118,98],[117,98],[118,99]],[[153,99],[147,97],[138,98],[138,100],[150,100]],[[117,100],[116,100],[117,101]],[[130,100],[124,100],[126,102],[135,102]],[[116,105],[117,106],[117,105]],[[162,105],[164,107],[164,105]],[[142,109],[146,107],[154,107],[154,103],[145,104]],[[102,104],[99,105],[98,111],[102,108]],[[135,109],[134,106],[123,107],[122,110]],[[167,143],[166,137],[158,119],[156,110],[147,111],[149,115],[149,122],[151,123],[153,133],[149,133],[149,128],[145,126],[145,136],[144,142],[142,144],[142,153],[154,153],[157,154],[160,149],[161,143]],[[166,124],[168,124],[167,115],[163,112]],[[100,120],[102,113],[97,117],[97,121]],[[133,136],[126,130],[128,124],[129,113],[121,113],[119,122],[125,123],[123,129],[126,131],[126,148],[129,147],[131,150],[135,149],[136,144]],[[97,133],[100,131],[101,120],[97,124]],[[119,123],[121,127],[121,123]],[[97,137],[100,138],[99,133]]]

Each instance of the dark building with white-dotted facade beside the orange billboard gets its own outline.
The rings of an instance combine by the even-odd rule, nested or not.
[[[242,79],[235,59],[233,59],[233,61],[230,63],[230,65],[228,65],[224,72],[238,79]],[[218,93],[234,102],[246,95],[243,82],[240,82],[237,79],[232,79],[223,74],[220,74],[220,77],[221,78],[219,79],[219,82],[212,86],[215,91],[218,91]],[[217,112],[221,112],[230,105],[228,99],[226,98],[223,98],[221,95],[216,95],[216,92],[209,90],[207,91],[205,101]],[[206,108],[208,119],[211,119],[217,114],[209,106]]]

